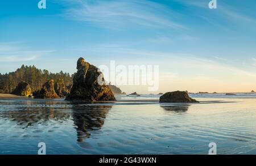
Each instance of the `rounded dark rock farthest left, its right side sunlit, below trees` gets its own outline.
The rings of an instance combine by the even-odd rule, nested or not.
[[[27,82],[19,82],[15,90],[12,92],[14,95],[32,97],[32,88]]]

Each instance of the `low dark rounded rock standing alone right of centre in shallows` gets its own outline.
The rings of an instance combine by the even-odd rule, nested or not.
[[[185,91],[174,91],[167,92],[164,95],[160,96],[160,103],[199,103],[195,99],[192,99],[188,96],[188,93]]]

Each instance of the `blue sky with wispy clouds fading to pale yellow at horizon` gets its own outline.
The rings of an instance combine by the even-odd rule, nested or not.
[[[256,1],[1,1],[0,73],[22,64],[76,72],[76,61],[158,65],[156,92],[256,91]],[[147,93],[147,86],[119,86]]]

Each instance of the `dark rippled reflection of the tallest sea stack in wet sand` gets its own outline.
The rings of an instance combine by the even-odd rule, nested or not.
[[[90,137],[92,130],[99,130],[104,125],[106,114],[112,105],[73,105],[72,117],[77,130],[77,141],[83,142]]]

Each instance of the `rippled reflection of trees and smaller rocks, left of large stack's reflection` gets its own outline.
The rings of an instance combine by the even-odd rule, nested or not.
[[[49,120],[63,122],[70,117],[70,113],[63,103],[51,101],[42,102],[10,102],[5,103],[5,108],[0,112],[0,118],[14,121],[25,129],[28,126],[46,124]]]

